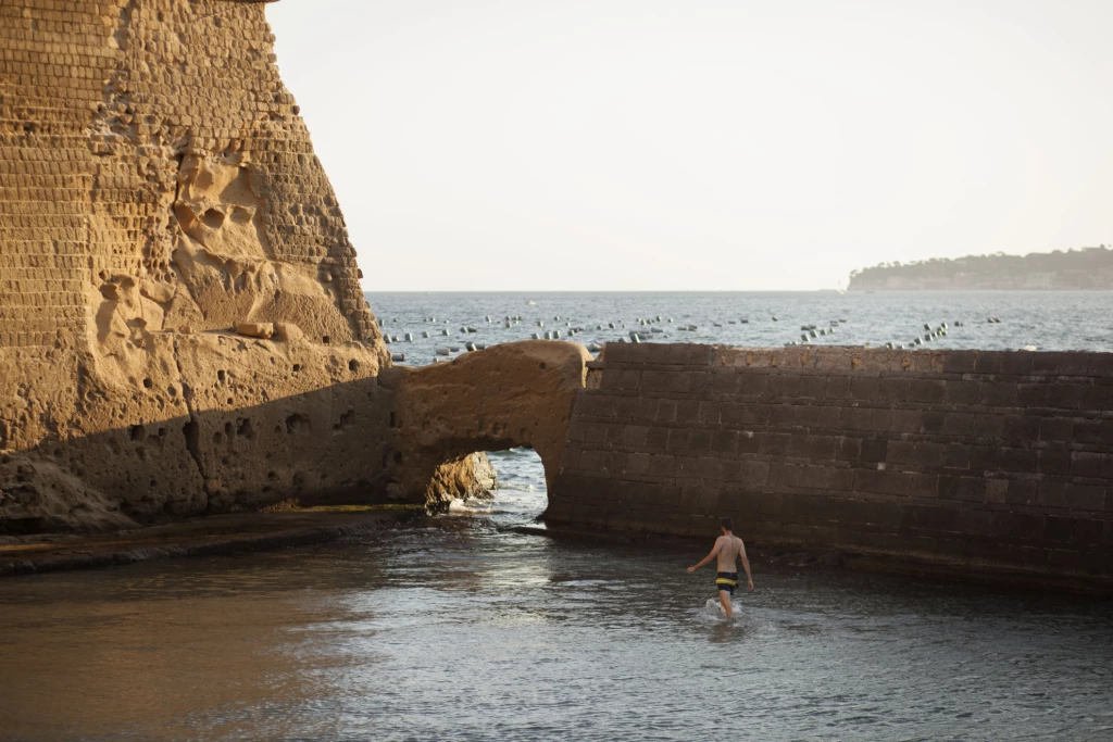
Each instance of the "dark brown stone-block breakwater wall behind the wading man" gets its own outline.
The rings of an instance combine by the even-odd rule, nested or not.
[[[1113,354],[609,345],[545,520],[1113,585]]]

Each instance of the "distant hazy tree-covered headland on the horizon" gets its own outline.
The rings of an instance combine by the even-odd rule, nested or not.
[[[1028,255],[967,255],[883,263],[850,273],[847,290],[1113,290],[1113,250],[1104,245]]]

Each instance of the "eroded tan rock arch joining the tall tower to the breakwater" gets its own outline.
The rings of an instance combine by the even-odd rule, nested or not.
[[[380,382],[395,395],[400,461],[393,477],[410,499],[443,499],[441,482],[473,452],[528,446],[552,482],[572,397],[591,354],[574,343],[524,340],[469,353],[452,363],[395,367]]]

